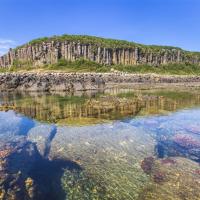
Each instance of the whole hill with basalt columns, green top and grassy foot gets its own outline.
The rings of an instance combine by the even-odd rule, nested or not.
[[[200,75],[200,52],[87,35],[62,35],[32,40],[2,57],[0,66],[3,66],[1,72],[59,70]]]

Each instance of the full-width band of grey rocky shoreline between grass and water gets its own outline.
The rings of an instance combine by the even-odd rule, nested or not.
[[[117,85],[184,85],[200,86],[200,76],[126,74],[126,73],[64,73],[21,72],[1,73],[0,91],[86,91],[102,90]]]

